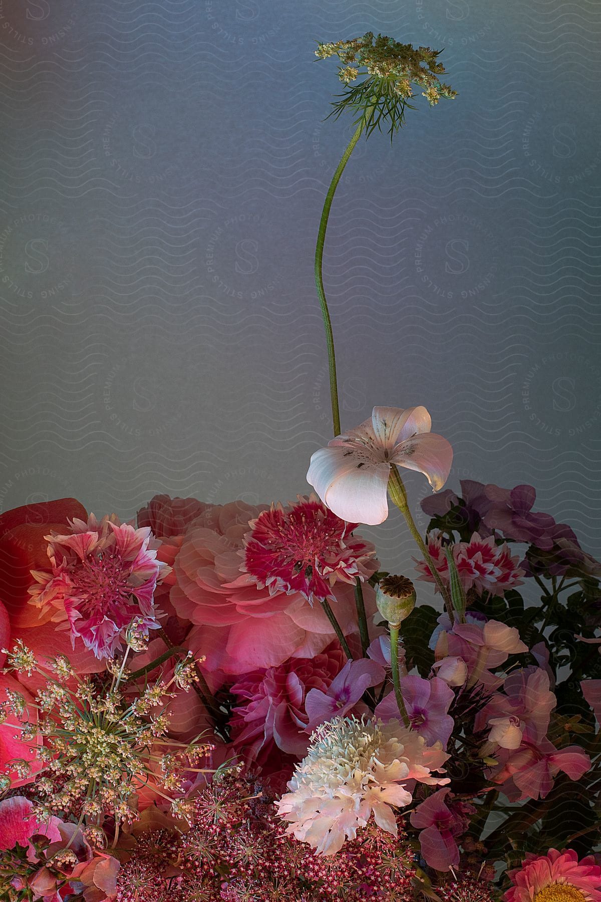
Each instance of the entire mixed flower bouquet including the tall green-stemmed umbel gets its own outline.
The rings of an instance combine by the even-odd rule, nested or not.
[[[333,115],[355,116],[315,253],[334,437],[286,506],[0,516],[8,902],[601,902],[601,566],[532,486],[441,491],[452,450],[425,408],[341,428],[336,186],[415,87],[455,92],[437,51],[381,35],[316,55],[340,63]],[[425,535],[399,467],[435,492]],[[410,574],[358,531],[389,503]]]

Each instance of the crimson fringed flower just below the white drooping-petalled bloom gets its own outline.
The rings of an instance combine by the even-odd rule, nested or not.
[[[357,523],[347,523],[328,510],[315,495],[298,495],[298,502],[269,511],[250,521],[244,537],[244,569],[270,594],[298,592],[310,604],[335,599],[337,580],[353,584],[376,569],[376,549],[354,537]]]

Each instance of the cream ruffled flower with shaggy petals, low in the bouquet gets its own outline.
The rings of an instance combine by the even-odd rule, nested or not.
[[[409,805],[414,781],[448,783],[432,776],[448,758],[441,742],[428,746],[396,720],[335,717],[313,733],[288,783],[292,791],[277,803],[279,815],[290,822],[287,833],[316,854],[339,851],[372,814],[378,826],[396,835],[392,806]]]

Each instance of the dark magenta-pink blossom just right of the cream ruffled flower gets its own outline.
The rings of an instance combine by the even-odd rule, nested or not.
[[[465,833],[469,823],[447,805],[448,796],[452,796],[450,789],[439,789],[417,805],[409,818],[421,831],[423,858],[435,870],[451,870],[459,864],[460,851],[455,837]]]

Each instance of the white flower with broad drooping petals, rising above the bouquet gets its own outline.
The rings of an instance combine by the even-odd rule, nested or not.
[[[342,520],[370,526],[382,523],[388,516],[392,465],[423,473],[435,492],[447,481],[452,448],[431,427],[424,407],[375,407],[371,419],[315,451],[307,482]]]

